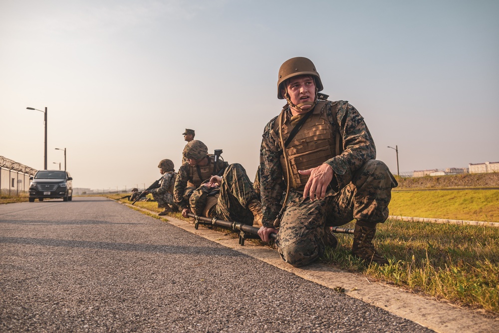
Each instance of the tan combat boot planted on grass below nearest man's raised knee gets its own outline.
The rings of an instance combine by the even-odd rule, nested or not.
[[[365,260],[368,265],[371,262],[377,263],[380,266],[386,265],[388,261],[374,249],[372,241],[375,234],[376,228],[360,227],[356,224],[353,232],[352,254],[355,257]]]

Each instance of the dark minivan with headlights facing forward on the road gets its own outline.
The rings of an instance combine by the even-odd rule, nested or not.
[[[39,170],[29,179],[29,202],[34,202],[34,199],[43,201],[45,198],[63,201],[73,199],[73,178],[67,171]]]

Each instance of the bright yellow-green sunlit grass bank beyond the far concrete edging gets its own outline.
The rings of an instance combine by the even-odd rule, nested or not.
[[[393,191],[390,215],[499,222],[499,190]]]

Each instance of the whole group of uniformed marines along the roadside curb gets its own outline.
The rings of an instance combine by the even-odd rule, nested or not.
[[[151,193],[164,208],[259,227],[264,242],[275,234],[281,258],[299,267],[335,247],[331,227],[355,220],[352,254],[367,264],[388,261],[372,243],[376,225],[388,218],[391,189],[397,181],[376,160],[374,140],[364,118],[347,101],[329,101],[314,64],[307,58],[286,60],[280,67],[277,97],[287,104],[265,126],[260,164],[253,182],[241,164],[188,141],[176,173],[169,159]]]

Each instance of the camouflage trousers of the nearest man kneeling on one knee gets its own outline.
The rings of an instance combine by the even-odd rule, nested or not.
[[[303,192],[290,191],[275,241],[278,253],[293,266],[307,265],[324,253],[325,226],[341,226],[353,219],[370,227],[385,222],[396,186],[383,162],[369,160],[350,184],[323,199],[312,202],[303,199]]]

